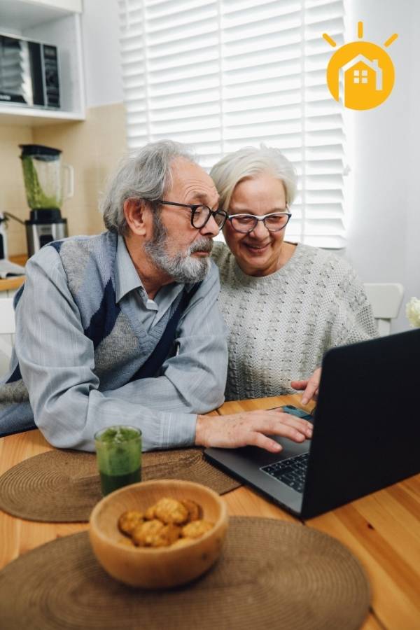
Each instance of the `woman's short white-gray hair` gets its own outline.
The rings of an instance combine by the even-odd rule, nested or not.
[[[235,153],[228,153],[211,169],[211,179],[221,197],[220,207],[229,208],[235,186],[240,181],[262,172],[268,172],[281,180],[286,190],[286,202],[290,206],[297,188],[295,167],[279,149],[261,144],[260,148],[247,146]]]

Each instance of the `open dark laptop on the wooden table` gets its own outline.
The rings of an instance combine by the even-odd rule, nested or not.
[[[270,436],[280,454],[248,446],[204,455],[295,516],[315,517],[420,472],[419,381],[420,329],[331,349],[311,440]]]

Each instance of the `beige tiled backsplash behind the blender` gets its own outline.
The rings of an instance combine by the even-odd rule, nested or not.
[[[127,151],[124,105],[93,107],[87,110],[83,123],[45,127],[5,126],[0,118],[0,211],[9,211],[22,220],[29,218],[29,208],[18,145],[31,143],[62,149],[62,161],[74,168],[74,197],[62,207],[69,235],[104,230],[98,200],[107,178]],[[27,251],[25,227],[16,221],[8,222],[8,250],[9,255]]]

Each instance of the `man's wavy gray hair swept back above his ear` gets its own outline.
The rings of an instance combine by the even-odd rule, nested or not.
[[[162,199],[165,190],[172,185],[171,164],[175,158],[197,163],[188,147],[172,140],[151,142],[121,160],[99,207],[107,230],[127,234],[129,228],[124,216],[127,199],[152,203]]]

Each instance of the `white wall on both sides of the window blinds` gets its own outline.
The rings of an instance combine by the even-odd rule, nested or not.
[[[176,0],[174,0],[176,1]],[[281,1],[281,0],[279,0]],[[420,297],[420,1],[346,0],[348,36],[387,49],[395,85],[386,102],[349,116],[348,246],[343,253],[363,281],[401,282],[405,300]],[[87,105],[123,100],[117,0],[84,0]],[[404,306],[393,332],[408,328]]]

